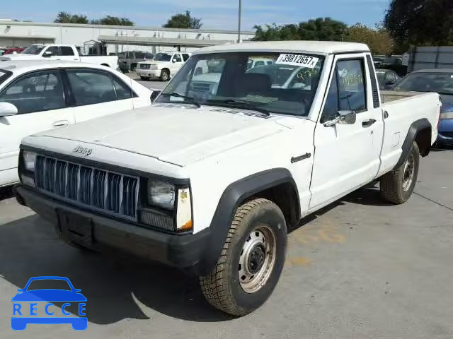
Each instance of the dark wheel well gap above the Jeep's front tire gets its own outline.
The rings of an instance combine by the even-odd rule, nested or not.
[[[300,208],[296,190],[292,184],[284,183],[273,186],[270,189],[265,189],[254,194],[246,199],[246,201],[255,198],[265,198],[273,201],[282,210],[283,215],[285,215],[286,225],[289,230],[297,226],[300,218]]]

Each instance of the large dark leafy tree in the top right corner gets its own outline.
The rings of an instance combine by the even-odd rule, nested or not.
[[[384,27],[398,45],[453,43],[452,0],[392,0]]]

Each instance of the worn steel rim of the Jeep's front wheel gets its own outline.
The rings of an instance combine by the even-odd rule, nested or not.
[[[275,266],[277,242],[267,225],[256,227],[247,237],[239,256],[238,275],[246,293],[260,290],[269,280]]]

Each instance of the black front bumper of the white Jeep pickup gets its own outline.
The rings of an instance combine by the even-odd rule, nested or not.
[[[125,251],[196,275],[209,270],[203,260],[210,241],[209,229],[197,234],[166,234],[69,206],[22,185],[15,187],[15,193],[19,203],[51,222],[59,234],[64,232],[59,218],[62,212],[90,220],[91,247],[98,251]]]

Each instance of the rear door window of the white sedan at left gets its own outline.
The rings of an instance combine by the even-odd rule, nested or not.
[[[75,105],[93,105],[117,100],[115,85],[109,73],[94,70],[67,70]]]

